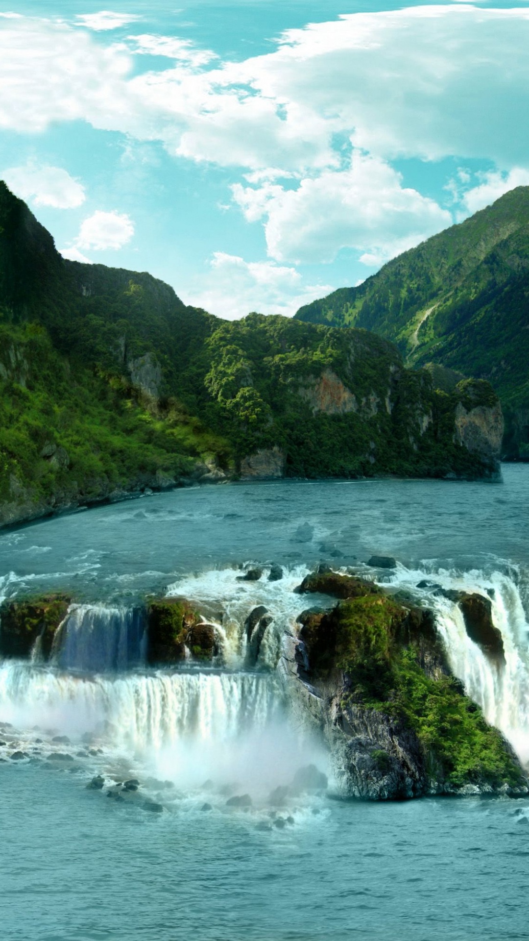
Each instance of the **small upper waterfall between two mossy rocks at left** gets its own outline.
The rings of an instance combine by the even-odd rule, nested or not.
[[[72,672],[134,669],[145,662],[145,629],[141,608],[72,605],[57,630],[53,661]]]

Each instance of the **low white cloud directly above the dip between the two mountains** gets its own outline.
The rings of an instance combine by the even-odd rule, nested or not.
[[[302,304],[329,294],[329,284],[303,284],[296,268],[272,262],[246,262],[236,255],[217,251],[199,290],[191,288],[188,303],[226,320],[238,320],[250,311],[292,316]]]

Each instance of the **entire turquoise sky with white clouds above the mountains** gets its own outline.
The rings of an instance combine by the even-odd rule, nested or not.
[[[0,0],[0,179],[66,257],[294,314],[529,184],[529,0]]]

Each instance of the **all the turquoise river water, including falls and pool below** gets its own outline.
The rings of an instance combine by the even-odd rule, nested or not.
[[[504,475],[502,485],[202,487],[0,535],[5,597],[66,588],[86,603],[83,611],[99,612],[101,627],[104,605],[182,589],[222,602],[233,624],[264,601],[278,625],[256,673],[245,673],[233,640],[229,667],[210,673],[136,666],[83,674],[0,663],[0,723],[11,724],[0,725],[7,742],[0,745],[1,937],[529,937],[529,800],[332,799],[324,750],[301,734],[275,666],[304,570],[321,559],[359,565],[372,552],[391,553],[400,565],[383,576],[388,582],[412,587],[427,574],[495,586],[494,610],[517,660],[508,683],[492,693],[474,669],[475,651],[457,646],[450,610],[438,614],[459,672],[468,667],[466,681],[476,684],[474,698],[491,696],[498,722],[508,700],[505,734],[527,737],[529,467],[509,466]],[[233,566],[250,561],[280,563],[285,579],[276,587],[236,582]],[[64,734],[70,741],[53,742]],[[11,760],[17,748],[31,760]],[[64,752],[72,760],[53,758]],[[329,791],[275,807],[269,790],[308,761],[329,774]],[[104,775],[104,789],[87,789],[94,774]],[[107,798],[115,781],[132,776],[137,793]],[[227,805],[230,794],[246,791],[246,811]],[[205,803],[210,810],[201,809]]]

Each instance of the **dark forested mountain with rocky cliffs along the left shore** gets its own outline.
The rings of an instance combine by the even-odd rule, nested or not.
[[[0,385],[0,524],[238,476],[493,477],[503,427],[487,382],[436,390],[366,330],[65,261],[4,183]]]

